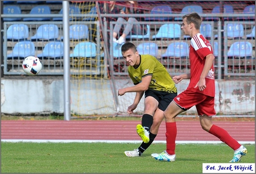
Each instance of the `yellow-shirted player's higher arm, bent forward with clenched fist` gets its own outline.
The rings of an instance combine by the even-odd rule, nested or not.
[[[145,77],[142,77],[141,79],[141,83],[138,83],[134,86],[130,86],[127,88],[122,88],[118,90],[118,95],[122,96],[124,95],[126,92],[141,92],[141,91],[147,91],[150,81],[151,81],[152,75],[148,75]]]

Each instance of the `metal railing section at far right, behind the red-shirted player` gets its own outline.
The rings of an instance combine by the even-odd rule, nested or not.
[[[253,26],[255,22],[250,21],[224,22],[224,76],[255,76],[255,38],[246,38],[247,28],[252,31]],[[228,37],[229,30],[234,37]]]

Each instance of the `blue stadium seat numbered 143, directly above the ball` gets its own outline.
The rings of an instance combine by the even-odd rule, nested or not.
[[[25,58],[30,55],[35,55],[35,45],[33,42],[26,40],[17,42],[12,49],[12,53],[8,54],[7,58]]]

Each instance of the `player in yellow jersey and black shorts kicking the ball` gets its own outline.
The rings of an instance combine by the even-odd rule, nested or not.
[[[129,64],[128,73],[134,86],[118,89],[118,96],[123,96],[126,92],[136,92],[127,113],[133,113],[145,92],[141,125],[136,127],[143,142],[138,149],[124,152],[128,157],[136,157],[141,156],[156,138],[164,119],[164,111],[177,96],[177,89],[172,77],[156,57],[139,54],[131,42],[122,45],[121,52],[125,62]]]

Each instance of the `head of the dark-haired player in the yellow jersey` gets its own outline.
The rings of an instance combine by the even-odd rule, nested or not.
[[[125,62],[127,62],[130,66],[134,66],[135,64],[137,65],[140,63],[140,59],[138,59],[139,53],[133,43],[126,42],[124,45],[122,45],[121,53]]]

